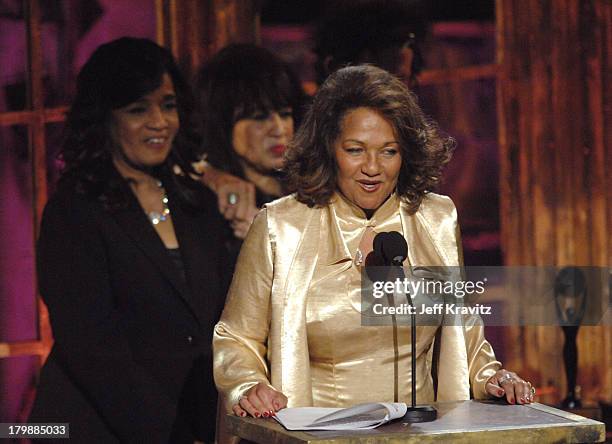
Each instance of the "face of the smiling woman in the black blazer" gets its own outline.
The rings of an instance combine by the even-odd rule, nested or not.
[[[137,165],[162,164],[178,130],[176,94],[168,74],[164,74],[162,84],[155,91],[112,112],[113,140]]]

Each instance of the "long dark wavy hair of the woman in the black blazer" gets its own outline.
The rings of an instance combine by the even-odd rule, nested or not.
[[[59,186],[104,202],[106,208],[125,204],[121,182],[113,169],[111,113],[156,90],[164,74],[176,92],[180,128],[165,163],[150,171],[175,182],[179,196],[194,204],[196,187],[189,174],[177,176],[176,166],[195,173],[199,138],[193,131],[193,98],[170,51],[147,39],[124,37],[99,46],[77,77],[76,96],[68,112],[59,157],[64,162]]]

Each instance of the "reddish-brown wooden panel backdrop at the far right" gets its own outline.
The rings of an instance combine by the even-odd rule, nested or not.
[[[612,2],[498,0],[507,265],[612,265]],[[508,329],[508,367],[565,396],[558,327]],[[612,329],[583,327],[578,384],[612,401]]]

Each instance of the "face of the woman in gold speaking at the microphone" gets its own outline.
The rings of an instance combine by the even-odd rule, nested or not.
[[[389,121],[370,108],[347,112],[334,150],[340,192],[364,210],[380,207],[395,190],[402,166]]]

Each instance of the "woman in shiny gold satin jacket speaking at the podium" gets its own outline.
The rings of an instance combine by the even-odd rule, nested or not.
[[[343,68],[323,84],[288,152],[294,194],[256,217],[215,328],[228,411],[267,417],[285,406],[409,399],[409,328],[395,342],[391,326],[361,325],[360,272],[376,233],[388,231],[407,240],[404,265],[462,263],[455,207],[430,192],[451,151],[386,71]],[[532,401],[531,385],[501,368],[473,319],[441,328],[434,393],[437,330],[417,328],[418,403]]]

